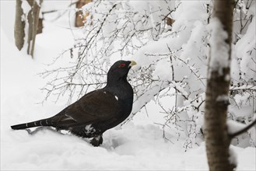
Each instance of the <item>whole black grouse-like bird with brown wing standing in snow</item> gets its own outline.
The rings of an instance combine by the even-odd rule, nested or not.
[[[82,138],[93,138],[99,146],[104,131],[124,121],[132,111],[133,89],[127,75],[135,61],[117,61],[107,72],[107,86],[87,93],[54,117],[11,126],[14,130],[50,126],[70,131]]]

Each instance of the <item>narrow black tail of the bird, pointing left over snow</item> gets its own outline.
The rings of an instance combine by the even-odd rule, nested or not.
[[[36,120],[36,121],[25,123],[25,124],[16,124],[16,125],[12,125],[11,127],[13,130],[22,130],[29,127],[40,127],[40,126],[52,126],[52,120],[47,118],[44,120]]]

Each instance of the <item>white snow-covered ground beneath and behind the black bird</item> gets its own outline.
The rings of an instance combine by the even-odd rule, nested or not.
[[[181,138],[173,136],[174,144],[163,139],[161,127],[154,124],[163,116],[154,103],[149,116],[142,111],[103,134],[100,147],[47,129],[33,135],[12,131],[12,124],[50,117],[65,107],[64,99],[40,103],[45,96],[40,88],[47,80],[37,74],[73,44],[73,34],[65,29],[68,22],[46,22],[32,60],[14,46],[14,10],[15,1],[1,1],[1,170],[208,170],[204,143],[184,152]],[[237,170],[256,170],[255,148],[231,148]]]

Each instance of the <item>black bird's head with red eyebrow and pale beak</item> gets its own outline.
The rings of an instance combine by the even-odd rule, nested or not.
[[[126,80],[130,68],[136,64],[135,61],[116,61],[107,72],[107,82],[117,82],[121,79]]]

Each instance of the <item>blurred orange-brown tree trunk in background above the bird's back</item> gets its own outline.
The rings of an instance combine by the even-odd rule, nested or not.
[[[79,0],[76,2],[76,9],[81,9],[83,5],[92,2],[92,0]],[[89,16],[89,12],[86,12],[85,15],[82,14],[82,11],[75,13],[75,26],[80,27],[84,26],[84,22],[86,21],[86,17]]]

